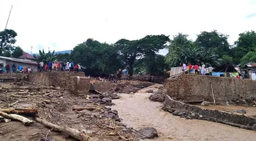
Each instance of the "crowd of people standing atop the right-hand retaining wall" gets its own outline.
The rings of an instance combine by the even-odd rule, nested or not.
[[[183,63],[182,65],[182,71],[186,71],[186,64]],[[193,69],[195,69],[195,73],[197,74],[201,74],[201,75],[205,75],[206,73],[209,73],[209,75],[212,76],[212,66],[209,66],[208,68],[206,67],[206,65],[202,62],[201,65],[199,64],[195,64],[195,65],[192,65],[191,63],[188,63],[188,73],[192,73],[193,72]]]

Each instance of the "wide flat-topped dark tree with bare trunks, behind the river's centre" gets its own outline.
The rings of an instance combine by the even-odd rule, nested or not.
[[[142,39],[133,41],[120,39],[115,43],[115,47],[121,59],[127,63],[128,73],[131,77],[135,62],[142,58],[147,62],[147,66],[145,66],[147,71],[150,74],[156,73],[155,66],[158,64],[156,60],[159,58],[156,53],[166,47],[167,41],[169,41],[169,37],[165,35],[147,35]]]

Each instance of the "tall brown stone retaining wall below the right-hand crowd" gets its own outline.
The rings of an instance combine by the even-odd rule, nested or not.
[[[219,103],[238,100],[253,102],[256,100],[256,81],[202,75],[182,75],[167,79],[167,94],[177,99],[213,102],[212,91]]]

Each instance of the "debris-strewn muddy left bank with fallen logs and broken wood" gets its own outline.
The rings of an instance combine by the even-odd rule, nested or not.
[[[6,124],[0,127],[2,140],[54,140],[57,135],[61,140],[134,140],[136,135],[119,122],[116,110],[106,107],[113,104],[108,95],[71,94],[60,87],[24,82],[1,86],[0,119],[8,119],[0,123]],[[27,127],[20,129],[13,121]]]

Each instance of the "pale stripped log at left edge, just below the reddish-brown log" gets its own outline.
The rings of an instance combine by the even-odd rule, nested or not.
[[[27,119],[26,117],[16,115],[16,114],[8,115],[6,113],[0,112],[0,115],[2,117],[4,117],[5,119],[12,119],[14,121],[21,121],[25,125],[31,125],[33,123],[33,121],[31,121],[30,119]]]

